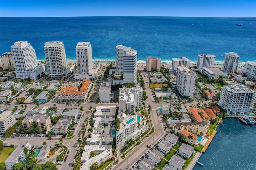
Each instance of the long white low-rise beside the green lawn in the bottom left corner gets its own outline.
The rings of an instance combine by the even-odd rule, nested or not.
[[[24,148],[31,149],[30,143],[26,142],[26,144],[19,144],[15,150],[10,154],[10,156],[4,161],[6,166],[6,170],[13,170],[12,166],[19,162],[26,162],[25,154],[23,152]]]

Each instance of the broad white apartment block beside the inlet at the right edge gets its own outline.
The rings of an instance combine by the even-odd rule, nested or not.
[[[255,91],[244,85],[225,85],[221,88],[219,105],[229,114],[252,113]]]

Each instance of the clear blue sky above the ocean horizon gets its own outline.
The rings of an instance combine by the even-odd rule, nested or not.
[[[2,17],[256,17],[256,0],[0,0]]]

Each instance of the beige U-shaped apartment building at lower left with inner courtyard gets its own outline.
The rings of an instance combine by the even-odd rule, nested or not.
[[[42,133],[46,133],[48,130],[50,130],[52,126],[50,116],[46,116],[44,114],[34,114],[33,116],[27,116],[22,121],[22,126],[25,133],[28,133],[28,128],[33,123],[36,124],[37,127],[39,127],[39,131]]]

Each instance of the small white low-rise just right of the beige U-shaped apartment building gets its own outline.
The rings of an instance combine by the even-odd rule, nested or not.
[[[52,127],[54,134],[66,134],[71,123],[72,119],[60,119],[56,125]]]

